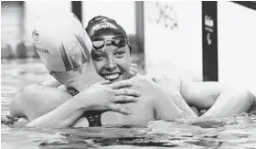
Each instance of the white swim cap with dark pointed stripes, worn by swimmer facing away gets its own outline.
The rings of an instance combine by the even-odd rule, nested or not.
[[[91,59],[91,39],[72,13],[55,11],[40,16],[32,38],[49,71],[77,69]]]

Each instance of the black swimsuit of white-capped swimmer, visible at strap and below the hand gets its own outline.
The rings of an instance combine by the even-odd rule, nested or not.
[[[69,88],[69,93],[72,96],[75,96],[79,93],[78,90],[75,90],[74,88]],[[84,112],[80,117],[86,117],[89,122],[89,127],[99,127],[101,126],[101,113],[100,111],[88,111]]]

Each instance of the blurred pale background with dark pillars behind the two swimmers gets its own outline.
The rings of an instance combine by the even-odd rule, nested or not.
[[[1,1],[2,80],[6,69],[17,63],[47,73],[31,31],[38,16],[50,9],[73,12],[84,27],[93,16],[115,19],[129,35],[133,62],[144,74],[216,80],[256,93],[252,1]]]

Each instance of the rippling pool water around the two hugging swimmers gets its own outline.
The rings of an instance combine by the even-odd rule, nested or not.
[[[155,121],[147,126],[38,129],[12,125],[9,104],[27,84],[50,79],[39,60],[2,60],[3,149],[35,148],[256,148],[256,113],[197,122]]]

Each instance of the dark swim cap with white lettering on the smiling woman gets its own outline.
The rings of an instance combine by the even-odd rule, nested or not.
[[[102,36],[117,36],[123,35],[126,39],[128,36],[123,27],[118,25],[115,20],[106,16],[93,17],[87,27],[85,28],[89,37],[102,37]],[[128,40],[128,46],[130,49],[130,41]]]

